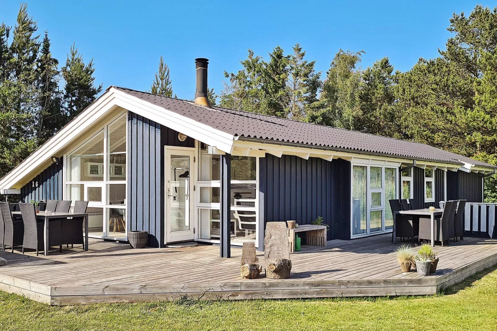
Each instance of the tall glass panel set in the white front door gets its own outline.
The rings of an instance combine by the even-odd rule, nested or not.
[[[170,203],[170,231],[189,230],[190,157],[171,155],[170,159],[170,183],[167,188],[167,199]]]

